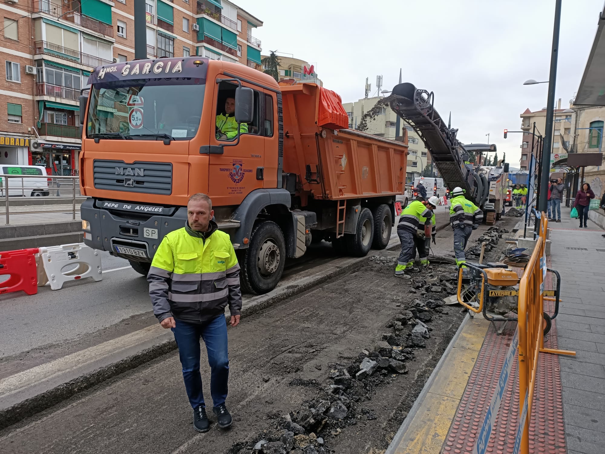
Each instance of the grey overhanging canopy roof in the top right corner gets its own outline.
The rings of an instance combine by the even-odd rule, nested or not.
[[[575,105],[605,105],[605,6],[599,15],[597,35],[592,43]]]

